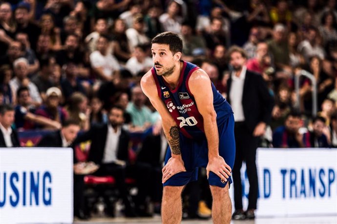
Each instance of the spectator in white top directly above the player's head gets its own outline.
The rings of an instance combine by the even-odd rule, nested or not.
[[[162,24],[164,31],[169,31],[177,34],[180,33],[181,23],[184,20],[184,18],[179,15],[181,10],[182,5],[178,3],[178,1],[169,1],[167,13],[164,13],[159,17],[159,21]]]

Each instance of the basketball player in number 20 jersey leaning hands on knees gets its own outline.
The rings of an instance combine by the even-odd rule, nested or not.
[[[182,39],[165,32],[152,39],[154,67],[141,86],[162,117],[169,149],[163,168],[162,220],[180,223],[181,192],[197,180],[198,167],[207,169],[213,196],[215,224],[231,222],[229,185],[235,157],[231,106],[209,76],[196,65],[181,61]]]

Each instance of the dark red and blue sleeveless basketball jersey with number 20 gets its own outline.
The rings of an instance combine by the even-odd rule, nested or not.
[[[188,138],[205,136],[204,120],[198,111],[193,95],[190,93],[190,75],[199,67],[183,61],[184,66],[180,74],[177,87],[172,90],[161,75],[157,75],[155,68],[151,69],[155,80],[159,97],[163,100],[169,113],[180,128],[182,134]],[[213,92],[213,106],[216,112],[218,127],[225,122],[232,108],[226,99],[215,89],[211,83]],[[200,105],[199,105],[200,106]]]

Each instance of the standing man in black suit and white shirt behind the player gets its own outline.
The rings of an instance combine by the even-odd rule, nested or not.
[[[232,106],[235,119],[236,155],[233,167],[234,220],[255,218],[258,182],[255,164],[259,137],[265,133],[271,121],[274,99],[261,75],[247,71],[247,57],[242,48],[233,46],[228,51],[233,72],[227,82],[227,99]],[[243,211],[240,169],[246,161],[249,179],[248,209]]]

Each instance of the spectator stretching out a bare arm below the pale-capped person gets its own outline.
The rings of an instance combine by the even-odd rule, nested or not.
[[[31,98],[27,87],[20,87],[17,95],[18,105],[15,107],[15,127],[17,130],[35,129],[37,125],[46,127],[47,129],[61,128],[60,121],[35,114],[36,109],[35,106],[31,104]]]

